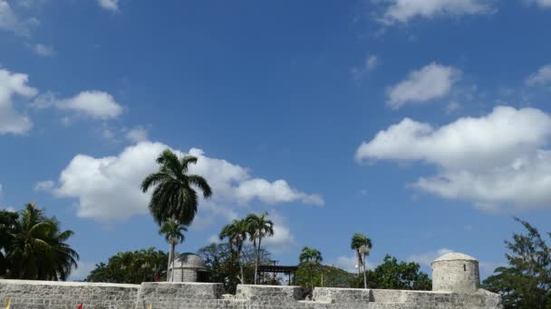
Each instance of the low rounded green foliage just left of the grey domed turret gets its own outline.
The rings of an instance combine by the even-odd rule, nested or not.
[[[100,263],[86,277],[88,282],[140,284],[166,278],[169,255],[155,248],[119,252]]]

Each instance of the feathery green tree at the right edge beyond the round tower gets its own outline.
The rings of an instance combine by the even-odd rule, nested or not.
[[[515,233],[512,240],[505,240],[510,251],[505,255],[508,266],[498,267],[482,286],[501,295],[506,309],[550,309],[551,248],[535,227],[515,220],[527,233]]]

